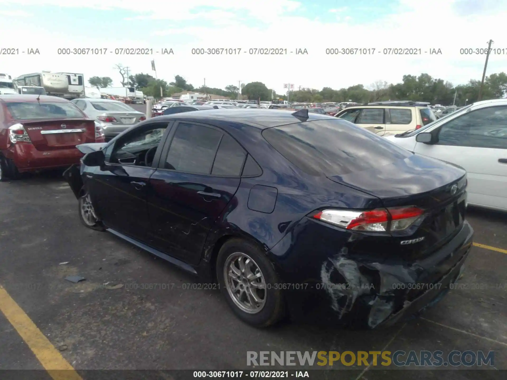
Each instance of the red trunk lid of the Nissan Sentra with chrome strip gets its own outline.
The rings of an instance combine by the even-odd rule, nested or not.
[[[23,124],[37,150],[68,149],[95,142],[95,122],[86,119],[28,120]]]

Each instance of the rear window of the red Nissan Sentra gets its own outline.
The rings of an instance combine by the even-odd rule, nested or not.
[[[14,120],[85,117],[70,102],[8,102],[6,105]]]

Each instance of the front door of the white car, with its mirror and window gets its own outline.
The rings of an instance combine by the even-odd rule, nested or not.
[[[436,144],[415,153],[452,162],[468,172],[468,202],[507,210],[507,106],[470,110],[443,124]]]

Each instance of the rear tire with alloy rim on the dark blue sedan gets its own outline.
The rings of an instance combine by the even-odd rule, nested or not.
[[[268,327],[285,315],[272,263],[255,244],[231,239],[216,258],[216,278],[229,307],[244,322]]]

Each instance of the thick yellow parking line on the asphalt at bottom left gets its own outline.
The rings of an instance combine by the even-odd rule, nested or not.
[[[0,311],[23,338],[54,380],[82,380],[16,301],[0,286]]]

